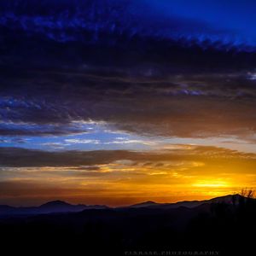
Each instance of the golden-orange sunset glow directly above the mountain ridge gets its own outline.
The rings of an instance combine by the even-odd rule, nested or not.
[[[212,150],[215,150],[212,154]],[[9,201],[63,199],[73,202],[119,206],[139,201],[172,202],[201,200],[256,187],[254,154],[205,148],[205,155],[191,154],[173,159],[148,154],[147,160],[114,160],[91,166],[5,168],[9,187],[2,198]],[[189,157],[187,151],[189,150]],[[208,150],[208,151],[207,151]],[[221,149],[223,150],[223,149]],[[169,153],[168,153],[169,154]],[[191,155],[190,155],[191,154]],[[28,177],[29,174],[29,177]],[[22,185],[24,184],[24,185]]]

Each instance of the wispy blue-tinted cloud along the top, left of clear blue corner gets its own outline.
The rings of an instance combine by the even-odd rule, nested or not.
[[[30,35],[38,34],[62,44],[78,41],[85,43],[86,39],[90,44],[102,41],[113,44],[122,35],[131,41],[138,35],[151,38],[204,38],[224,42],[235,38],[234,31],[212,26],[204,19],[159,12],[155,8],[157,4],[150,1],[62,1],[57,5],[55,1],[37,4],[31,1],[10,2],[8,5],[1,3],[2,26]],[[108,37],[102,37],[104,32]]]

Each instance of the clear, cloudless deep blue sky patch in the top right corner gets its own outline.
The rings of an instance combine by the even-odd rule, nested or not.
[[[150,6],[152,13],[146,12],[148,15],[155,15],[156,19],[165,16],[172,19],[176,16],[181,20],[198,20],[202,26],[208,26],[208,30],[203,30],[198,26],[198,32],[202,31],[201,36],[206,37],[219,36],[222,39],[236,40],[237,44],[256,43],[256,2],[255,1],[221,1],[221,0],[180,0],[180,1],[156,1],[142,0],[137,3],[140,8],[137,9],[138,15],[144,15],[143,5]],[[146,9],[148,10],[148,9]],[[157,21],[156,21],[157,22]],[[191,28],[193,23],[191,24]],[[211,29],[210,29],[211,28]],[[215,30],[212,33],[211,30]],[[219,31],[219,34],[218,34]],[[223,33],[226,31],[226,33]]]

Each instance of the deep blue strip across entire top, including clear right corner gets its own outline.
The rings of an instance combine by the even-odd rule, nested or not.
[[[1,3],[0,24],[61,42],[83,39],[84,29],[166,38],[256,44],[255,1],[94,0]],[[105,38],[106,39],[106,38]],[[88,40],[88,38],[87,38]]]

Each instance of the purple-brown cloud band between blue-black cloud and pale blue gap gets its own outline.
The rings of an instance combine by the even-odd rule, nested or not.
[[[252,140],[256,131],[253,73],[148,77],[28,70],[20,76],[6,73],[3,79],[4,136],[74,134],[84,130],[73,121],[90,119],[149,136]]]

